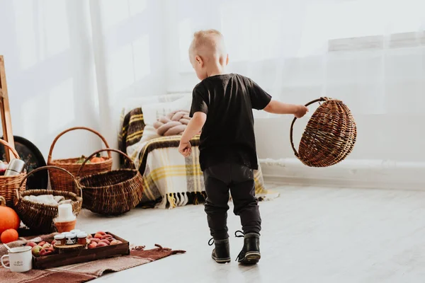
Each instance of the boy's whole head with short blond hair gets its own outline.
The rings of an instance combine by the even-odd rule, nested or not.
[[[222,70],[229,62],[223,35],[217,30],[200,30],[193,34],[189,59],[200,80]]]

